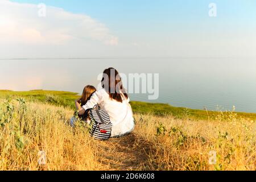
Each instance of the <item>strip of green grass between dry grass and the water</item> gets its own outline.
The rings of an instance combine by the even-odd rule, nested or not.
[[[71,107],[75,109],[74,101],[79,98],[77,93],[64,92],[64,91],[52,91],[52,90],[30,90],[25,92],[15,92],[11,90],[0,90],[0,98],[24,98],[27,101],[32,102],[47,102],[52,105],[60,105],[64,107]],[[230,112],[220,111],[206,111],[197,109],[187,109],[184,107],[174,107],[168,104],[152,104],[148,102],[132,101],[131,107],[134,113],[137,114],[154,114],[159,116],[174,115],[176,118],[197,118],[208,119],[216,118],[218,115],[223,114],[224,117],[229,117]],[[238,113],[238,117],[256,119],[254,113]]]

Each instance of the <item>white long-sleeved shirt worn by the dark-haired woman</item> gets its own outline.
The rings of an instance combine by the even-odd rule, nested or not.
[[[134,118],[130,99],[123,98],[123,102],[112,100],[105,89],[100,89],[93,93],[90,100],[82,106],[84,110],[93,108],[96,104],[109,114],[113,124],[111,137],[128,133],[134,129]]]

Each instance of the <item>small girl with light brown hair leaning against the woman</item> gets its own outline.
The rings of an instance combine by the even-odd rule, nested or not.
[[[78,100],[75,101],[76,109],[80,110],[81,106],[85,105],[92,94],[96,92],[96,88],[92,85],[85,86],[84,90],[82,90],[82,96]],[[78,117],[82,119],[82,121],[89,122],[89,114],[88,111],[83,114],[78,114]],[[76,118],[71,118],[71,126],[74,126]]]

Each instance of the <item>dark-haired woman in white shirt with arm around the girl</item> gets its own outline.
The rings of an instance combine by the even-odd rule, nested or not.
[[[101,109],[108,112],[110,121],[112,121],[111,137],[121,137],[131,133],[134,130],[133,111],[117,70],[105,69],[101,85],[102,89],[92,94],[90,100],[79,109],[79,114],[84,114],[86,110],[92,109],[98,104]]]

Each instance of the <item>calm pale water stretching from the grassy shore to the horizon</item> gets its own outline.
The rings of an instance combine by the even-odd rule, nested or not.
[[[159,73],[159,98],[131,94],[132,100],[193,109],[256,113],[256,59],[47,59],[0,60],[0,89],[69,90],[97,86],[104,68],[121,73]]]

